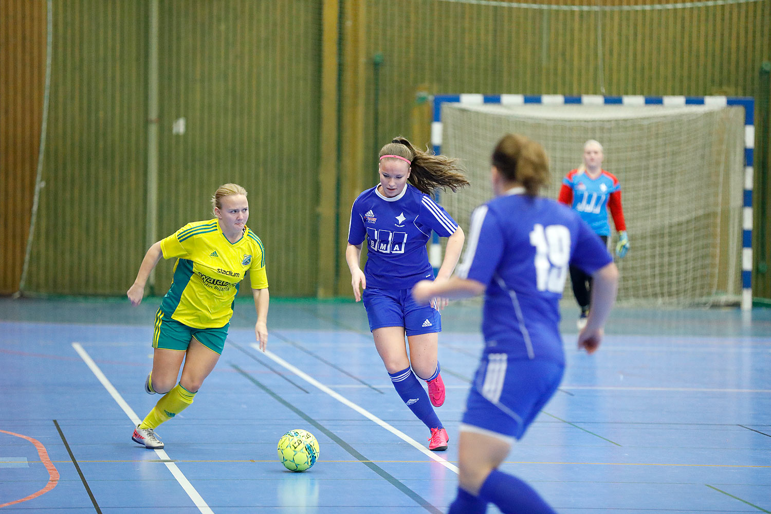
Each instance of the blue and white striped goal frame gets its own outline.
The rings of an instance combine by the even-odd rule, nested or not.
[[[601,95],[436,95],[433,98],[431,143],[434,152],[442,151],[442,105],[484,103],[520,106],[525,104],[584,106],[741,106],[744,108],[744,200],[742,203],[742,311],[752,309],[752,181],[755,149],[755,99],[748,96],[601,96]],[[441,264],[439,237],[433,234],[429,257],[433,267]]]

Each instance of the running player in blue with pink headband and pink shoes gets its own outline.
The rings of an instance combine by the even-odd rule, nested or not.
[[[454,191],[468,181],[456,160],[422,152],[401,137],[382,147],[378,170],[380,183],[361,193],[351,210],[345,260],[353,295],[356,301],[364,300],[375,348],[394,388],[431,432],[429,449],[443,451],[448,436],[432,405],[439,407],[445,397],[437,358],[437,333],[442,330],[437,308],[446,305],[446,299],[418,305],[409,291],[418,281],[433,279],[426,252],[432,230],[448,238],[437,277],[453,273],[463,249],[463,230],[430,194],[438,187]],[[362,271],[365,242],[367,263]],[[416,375],[428,383],[427,395]]]

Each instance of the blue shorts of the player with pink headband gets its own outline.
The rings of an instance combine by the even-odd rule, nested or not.
[[[407,335],[442,331],[442,317],[430,305],[419,305],[412,299],[412,289],[374,289],[362,293],[369,330],[404,327]]]

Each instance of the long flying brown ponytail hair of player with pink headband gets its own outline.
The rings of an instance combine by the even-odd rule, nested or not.
[[[457,159],[423,152],[402,136],[395,137],[380,149],[379,157],[386,155],[396,155],[410,161],[412,170],[407,180],[421,193],[432,194],[434,190],[446,187],[454,192],[469,185]]]

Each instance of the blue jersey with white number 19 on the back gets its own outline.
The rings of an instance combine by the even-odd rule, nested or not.
[[[487,286],[485,354],[564,365],[559,301],[569,264],[588,274],[612,261],[596,233],[569,207],[521,187],[477,207],[456,274]]]

